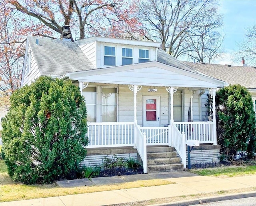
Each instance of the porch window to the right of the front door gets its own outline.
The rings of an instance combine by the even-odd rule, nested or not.
[[[182,122],[182,91],[178,90],[173,94],[173,120]]]

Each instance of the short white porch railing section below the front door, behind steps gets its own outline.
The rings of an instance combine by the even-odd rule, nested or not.
[[[146,133],[147,145],[168,145],[168,128],[166,127],[141,127]]]

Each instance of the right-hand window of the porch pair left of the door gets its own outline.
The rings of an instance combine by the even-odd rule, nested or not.
[[[116,122],[117,88],[102,88],[102,122]]]

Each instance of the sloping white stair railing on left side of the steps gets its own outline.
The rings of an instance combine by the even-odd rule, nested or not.
[[[143,172],[147,173],[147,145],[146,134],[142,133],[140,126],[134,124],[134,147],[137,149],[140,158],[142,159]]]

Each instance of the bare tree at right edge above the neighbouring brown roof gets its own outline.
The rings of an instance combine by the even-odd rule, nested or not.
[[[243,41],[238,43],[238,51],[234,53],[234,60],[241,61],[244,60],[248,64],[256,65],[256,25],[247,29],[246,37]]]

